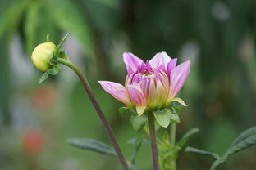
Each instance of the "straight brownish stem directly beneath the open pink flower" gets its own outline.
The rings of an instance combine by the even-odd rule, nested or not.
[[[153,169],[160,170],[159,160],[158,160],[158,145],[157,145],[156,131],[154,127],[153,113],[149,113],[148,122],[149,122],[149,133],[150,133],[150,140],[151,140]]]

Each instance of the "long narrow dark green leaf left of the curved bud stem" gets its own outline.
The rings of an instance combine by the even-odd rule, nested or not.
[[[117,153],[112,148],[112,146],[104,144],[101,141],[96,141],[94,139],[70,138],[66,142],[81,149],[92,150],[100,154],[117,156]]]

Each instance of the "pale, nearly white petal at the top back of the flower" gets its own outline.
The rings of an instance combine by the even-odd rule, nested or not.
[[[165,68],[167,68],[167,64],[170,60],[171,57],[168,56],[166,52],[162,51],[153,56],[153,59],[149,60],[149,63],[155,69],[158,69],[161,65],[164,65]]]

